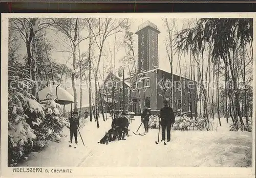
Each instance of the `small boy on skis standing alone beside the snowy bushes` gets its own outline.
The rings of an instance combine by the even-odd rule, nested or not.
[[[70,122],[70,144],[72,146],[73,136],[75,136],[75,148],[77,147],[77,129],[79,127],[79,118],[76,111],[73,112],[73,117],[69,119]]]

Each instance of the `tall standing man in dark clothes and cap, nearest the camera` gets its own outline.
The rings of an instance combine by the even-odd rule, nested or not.
[[[167,129],[167,142],[170,141],[170,128],[175,122],[174,111],[168,106],[168,101],[164,100],[164,107],[160,111],[160,124],[162,127],[162,141],[165,141],[165,130]]]

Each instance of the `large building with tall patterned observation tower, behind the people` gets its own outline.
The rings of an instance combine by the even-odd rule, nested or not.
[[[175,74],[172,82],[171,74],[159,68],[159,33],[157,26],[150,21],[139,26],[135,33],[138,35],[137,74],[125,78],[123,100],[122,78],[109,73],[100,88],[104,97],[100,100],[104,103],[105,111],[109,112],[114,106],[116,110],[122,110],[124,105],[126,111],[140,115],[141,108],[146,105],[153,114],[158,114],[163,107],[163,100],[167,99],[175,113],[195,114],[197,83]]]

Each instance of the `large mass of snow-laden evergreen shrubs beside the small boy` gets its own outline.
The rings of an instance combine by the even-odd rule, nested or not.
[[[59,140],[60,131],[67,123],[65,118],[60,117],[60,107],[53,99],[38,103],[26,89],[27,79],[16,77],[12,80],[18,80],[24,88],[9,87],[8,91],[9,166],[26,160],[31,151],[41,149],[49,140]]]

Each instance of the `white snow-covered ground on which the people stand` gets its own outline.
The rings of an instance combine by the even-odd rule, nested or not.
[[[60,143],[51,143],[41,152],[33,152],[28,161],[19,166],[146,166],[146,167],[251,167],[252,133],[229,132],[229,124],[222,119],[222,127],[216,131],[171,131],[172,141],[155,144],[158,130],[150,130],[145,136],[136,136],[140,117],[130,124],[130,137],[126,140],[98,144],[105,131],[111,128],[112,119],[89,122],[81,129],[86,146],[79,138],[79,147],[68,147],[67,137]],[[140,133],[144,132],[143,125]],[[160,130],[161,139],[161,130]]]

